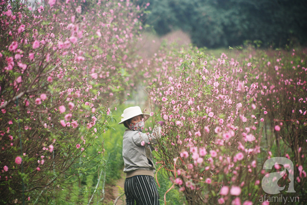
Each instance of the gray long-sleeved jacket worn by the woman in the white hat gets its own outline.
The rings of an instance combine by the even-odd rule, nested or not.
[[[150,145],[157,144],[157,138],[161,136],[160,132],[160,126],[155,127],[151,134],[126,129],[123,136],[123,159],[127,177],[153,175],[156,168],[152,161]]]

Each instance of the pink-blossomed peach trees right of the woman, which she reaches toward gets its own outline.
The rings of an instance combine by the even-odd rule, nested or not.
[[[303,120],[306,109],[303,103],[307,97],[305,54],[299,57],[299,69],[293,68],[294,74],[289,72],[289,64],[284,63],[279,75],[272,72],[273,65],[268,67],[269,57],[263,55],[250,51],[237,59],[226,54],[215,58],[191,48],[186,52],[161,51],[151,60],[148,94],[152,106],[158,110],[152,115],[156,121],[165,121],[156,147],[157,162],[173,186],[184,193],[188,204],[271,204],[271,201],[260,201],[260,197],[266,194],[261,189],[262,178],[269,172],[282,170],[279,166],[262,170],[264,162],[273,156],[288,157],[297,163],[292,170],[295,188],[302,191],[305,186],[306,137],[302,135],[306,127]],[[282,60],[289,62],[289,59],[297,60],[293,55]],[[279,96],[282,94],[279,90],[284,87],[281,82],[290,78],[289,75],[295,75],[291,81],[299,88],[287,93],[291,98],[300,99],[294,104]],[[275,104],[272,110],[272,101],[282,102],[287,108],[279,109]],[[288,132],[289,127],[275,126],[277,120],[272,116],[286,120],[281,115],[291,107],[300,107],[295,108],[298,116],[292,117],[300,124],[295,138],[301,145],[296,144],[297,148],[285,149],[280,154],[271,150],[273,141],[267,138],[276,136],[281,141],[279,134]],[[287,143],[286,140],[283,142]],[[287,183],[287,176],[283,176],[281,185]]]

